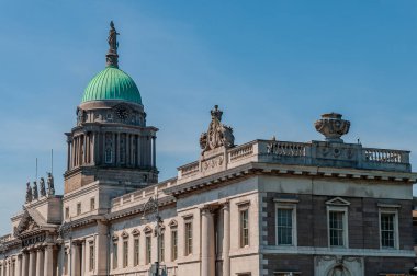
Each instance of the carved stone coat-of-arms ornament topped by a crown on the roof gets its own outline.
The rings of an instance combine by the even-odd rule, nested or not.
[[[222,146],[225,148],[232,148],[235,146],[235,137],[233,136],[232,127],[221,123],[223,112],[218,110],[218,105],[214,106],[211,114],[212,122],[208,125],[208,130],[200,136],[202,153]]]

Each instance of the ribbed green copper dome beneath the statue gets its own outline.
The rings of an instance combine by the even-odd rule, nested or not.
[[[121,100],[142,104],[139,90],[133,79],[121,69],[108,66],[87,85],[82,103]]]

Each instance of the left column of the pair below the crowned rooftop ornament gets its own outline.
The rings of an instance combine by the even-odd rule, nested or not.
[[[214,221],[210,208],[202,209],[201,218],[201,276],[214,276]]]

